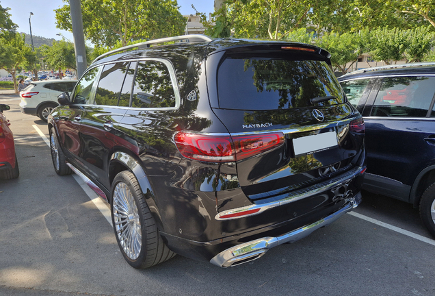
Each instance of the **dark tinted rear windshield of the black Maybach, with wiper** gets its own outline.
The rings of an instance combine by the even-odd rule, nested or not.
[[[218,69],[220,108],[278,110],[343,103],[343,90],[326,62],[227,57]],[[319,103],[310,99],[335,98]]]

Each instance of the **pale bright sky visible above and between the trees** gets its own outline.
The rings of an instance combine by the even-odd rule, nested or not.
[[[199,12],[205,12],[207,16],[214,10],[213,0],[178,0],[177,3],[181,14],[195,14],[192,4]],[[9,14],[11,19],[18,25],[18,32],[30,34],[29,16],[30,16],[31,34],[45,38],[54,38],[61,40],[63,35],[66,39],[72,41],[72,33],[57,29],[55,25],[55,12],[53,10],[64,5],[62,0],[0,0],[3,8],[10,8]]]

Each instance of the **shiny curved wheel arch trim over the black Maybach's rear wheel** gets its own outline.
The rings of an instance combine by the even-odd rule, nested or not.
[[[114,181],[114,178],[121,171],[131,171],[139,183],[140,189],[142,190],[142,194],[145,197],[146,204],[150,209],[153,218],[157,223],[157,227],[159,230],[163,231],[163,223],[161,220],[161,214],[159,212],[159,208],[157,208],[157,204],[155,202],[155,194],[153,188],[151,188],[151,184],[146,177],[146,173],[140,163],[133,158],[133,156],[128,153],[117,151],[114,152],[110,158],[109,162],[109,181],[110,184]],[[111,197],[110,197],[111,199]],[[111,200],[110,200],[111,202]]]

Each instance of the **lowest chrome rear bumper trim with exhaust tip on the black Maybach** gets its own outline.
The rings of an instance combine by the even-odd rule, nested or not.
[[[321,219],[310,225],[300,227],[297,230],[288,232],[287,234],[282,234],[282,236],[267,236],[257,240],[252,240],[248,243],[237,245],[235,247],[231,247],[220,252],[220,254],[213,257],[210,262],[218,267],[230,267],[258,259],[263,256],[267,250],[272,249],[272,247],[282,245],[283,243],[293,243],[296,240],[300,240],[301,238],[308,236],[311,234],[311,232],[319,229],[320,227],[329,225],[330,223],[339,219],[339,217],[343,216],[343,214],[350,212],[353,208],[356,208],[360,202],[361,193],[358,193],[349,200],[346,206],[337,212],[330,214],[324,219]]]

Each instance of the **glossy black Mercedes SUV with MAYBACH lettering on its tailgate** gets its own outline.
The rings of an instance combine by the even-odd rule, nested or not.
[[[132,267],[260,258],[360,203],[364,122],[329,57],[204,35],[106,53],[49,115],[54,169],[111,204]]]

